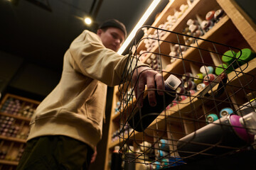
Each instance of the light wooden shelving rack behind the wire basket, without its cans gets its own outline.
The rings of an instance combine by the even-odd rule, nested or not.
[[[147,31],[147,34],[153,34],[155,28],[158,28],[159,25],[165,23],[167,21],[167,17],[169,15],[174,15],[174,11],[177,10],[181,4],[187,4],[186,0],[171,0],[169,4],[166,5],[164,10],[159,14],[159,16],[156,18],[154,23],[151,25],[154,28],[149,28]],[[183,54],[182,60],[176,60],[175,62],[171,63],[169,52],[170,49],[170,43],[178,43],[180,41],[181,44],[183,44],[183,36],[177,35],[177,33],[182,33],[183,28],[186,28],[188,19],[196,19],[196,18],[202,18],[204,20],[206,13],[208,11],[218,10],[220,8],[223,8],[225,11],[225,16],[218,21],[218,23],[215,23],[213,28],[208,30],[207,33],[205,33],[202,37],[196,39],[198,47],[189,47],[188,50]],[[223,44],[223,47],[216,47],[218,50],[218,57],[221,59],[221,54],[226,52],[225,45],[228,47],[237,47],[235,49],[238,50],[238,48],[251,48],[252,50],[256,51],[256,25],[252,22],[251,18],[247,16],[245,11],[242,11],[242,8],[236,4],[235,0],[195,0],[193,3],[188,6],[186,11],[182,14],[180,18],[176,21],[174,26],[170,28],[170,30],[166,30],[166,34],[159,40],[159,45],[156,45],[151,49],[149,54],[144,57],[144,60],[142,62],[146,62],[146,60],[150,57],[151,53],[159,53],[159,49],[161,50],[161,63],[163,66],[163,75],[164,79],[169,77],[169,74],[174,74],[177,77],[182,76],[185,72],[191,71],[191,65],[195,65],[195,67],[200,68],[202,65],[209,65],[209,66],[217,66],[217,64],[214,63],[210,52],[208,50],[212,49],[210,48],[210,41],[217,42],[216,44],[220,43]],[[181,38],[180,38],[181,37]],[[146,37],[143,37],[146,38]],[[202,40],[200,40],[202,39]],[[192,45],[191,45],[192,46]],[[211,46],[213,47],[213,46]],[[137,52],[139,53],[142,50],[146,50],[144,41],[139,41],[139,44],[137,45]],[[228,49],[230,50],[230,49]],[[200,52],[199,52],[200,51]],[[215,50],[213,50],[215,52]],[[203,60],[202,60],[203,58]],[[164,64],[163,64],[164,63]],[[242,86],[244,89],[244,93],[249,91],[252,87],[252,89],[256,89],[255,84],[255,72],[256,72],[256,58],[251,60],[249,62],[249,65],[244,64],[240,68],[235,69],[234,72],[230,72],[228,74],[228,84],[226,85],[227,91],[232,91],[232,88],[239,88],[238,84],[245,84],[245,86]],[[185,68],[185,69],[183,69]],[[247,82],[243,82],[244,79],[253,79],[254,81],[252,84],[250,84],[250,88],[247,88]],[[156,140],[156,135],[159,137],[159,134],[166,130],[166,128],[171,128],[171,130],[176,130],[175,132],[178,132],[178,134],[175,135],[175,140],[181,139],[183,135],[186,135],[188,133],[194,132],[196,129],[203,127],[206,125],[206,114],[208,112],[207,107],[211,107],[211,102],[213,98],[207,98],[204,96],[206,92],[208,94],[215,93],[218,89],[218,84],[211,84],[211,88],[209,86],[206,86],[205,89],[196,92],[196,94],[193,94],[192,98],[186,98],[185,100],[181,101],[180,103],[176,104],[175,106],[172,106],[168,110],[162,112],[159,114],[158,118],[154,120],[151,125],[149,125],[144,132],[136,132],[131,131],[129,132],[129,136],[125,135],[121,140],[116,140],[112,142],[110,139],[112,136],[112,132],[115,132],[119,128],[119,118],[120,113],[117,113],[113,115],[114,113],[114,104],[112,105],[112,116],[110,118],[110,131],[109,131],[109,139],[107,142],[107,154],[106,154],[106,162],[105,162],[105,169],[109,169],[108,162],[110,160],[110,151],[113,149],[114,146],[119,145],[119,142],[129,142],[129,144],[134,144],[142,140],[145,141],[153,141],[152,139],[147,139],[145,137],[152,137],[154,138],[154,141]],[[230,89],[228,89],[230,87]],[[118,87],[117,87],[118,88]],[[115,88],[115,89],[117,89]],[[210,91],[209,91],[210,89]],[[114,92],[114,98],[113,102],[117,101],[118,94],[116,90]],[[226,92],[227,92],[226,91]],[[256,91],[256,90],[255,90]],[[228,93],[227,92],[227,93]],[[241,92],[242,93],[242,92]],[[227,94],[229,95],[229,94]],[[240,94],[237,94],[238,96]],[[245,95],[246,96],[246,95]],[[216,100],[216,102],[219,102],[223,100],[223,98],[226,98],[223,94],[223,96],[219,96],[219,98]],[[244,98],[244,96],[242,97]],[[245,99],[245,98],[244,98]],[[225,99],[224,99],[225,100]],[[231,98],[231,100],[233,100]],[[136,102],[136,101],[135,101]],[[135,103],[134,102],[134,103]],[[221,101],[222,102],[222,101]],[[233,101],[232,101],[233,102]],[[242,103],[242,99],[241,102]],[[240,104],[238,103],[238,105]],[[223,106],[226,104],[220,103]],[[202,106],[203,105],[203,106]],[[124,115],[129,115],[131,113],[132,104],[129,104],[127,108],[121,111]],[[204,108],[206,107],[206,108]],[[191,109],[192,108],[192,109]],[[235,108],[235,106],[234,106]],[[198,111],[197,111],[198,110]],[[197,112],[199,115],[198,124],[194,125],[193,120],[193,112]],[[196,114],[197,114],[196,113]],[[123,118],[122,118],[123,119]],[[124,120],[126,120],[124,118]],[[120,122],[122,122],[121,120]],[[166,123],[167,121],[167,123]],[[168,124],[170,123],[170,124]],[[157,125],[157,126],[156,126]],[[167,132],[167,135],[170,132]],[[160,135],[161,136],[161,135]],[[169,134],[168,137],[173,137],[174,134]],[[175,142],[175,141],[174,141]]]

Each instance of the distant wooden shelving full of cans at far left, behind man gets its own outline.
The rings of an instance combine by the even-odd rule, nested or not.
[[[6,94],[0,104],[0,169],[16,169],[26,146],[29,123],[39,101]]]

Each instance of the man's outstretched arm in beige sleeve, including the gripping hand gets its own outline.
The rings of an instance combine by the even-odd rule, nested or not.
[[[97,79],[108,86],[118,85],[122,79],[122,74],[126,69],[129,56],[118,55],[116,52],[107,49],[97,38],[97,35],[90,32],[82,33],[70,45],[70,54],[73,60],[70,64],[74,69],[92,79]],[[164,80],[159,72],[154,71],[149,65],[142,62],[132,62],[132,75],[135,94],[138,98],[144,93],[145,85],[148,89],[164,89]],[[156,86],[155,86],[156,84]],[[158,91],[161,95],[162,92]],[[154,91],[148,91],[149,103],[156,105]],[[143,98],[139,98],[139,106],[142,106]]]

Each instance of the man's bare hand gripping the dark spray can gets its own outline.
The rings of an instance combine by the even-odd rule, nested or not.
[[[154,90],[157,89],[159,95],[163,95],[164,90],[164,79],[159,72],[154,71],[149,67],[138,67],[132,75],[132,81],[134,85],[135,96],[138,100],[139,108],[143,106],[143,95],[145,90],[145,85],[148,90],[148,98],[150,106],[156,106],[156,95]],[[156,86],[155,86],[156,84]]]

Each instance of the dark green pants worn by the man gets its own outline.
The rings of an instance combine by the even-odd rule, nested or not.
[[[73,138],[53,135],[29,140],[17,170],[88,169],[93,150]]]

